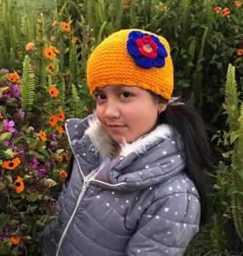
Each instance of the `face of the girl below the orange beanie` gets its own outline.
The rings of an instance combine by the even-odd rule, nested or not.
[[[152,131],[158,112],[166,108],[137,86],[98,87],[94,96],[97,118],[116,143],[132,143]]]

